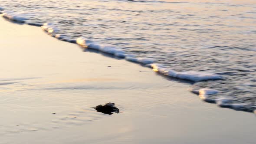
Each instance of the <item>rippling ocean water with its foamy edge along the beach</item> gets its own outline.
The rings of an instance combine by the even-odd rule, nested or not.
[[[4,17],[152,67],[220,107],[256,109],[254,0],[0,0]]]

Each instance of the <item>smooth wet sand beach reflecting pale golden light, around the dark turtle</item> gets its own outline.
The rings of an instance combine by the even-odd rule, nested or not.
[[[0,144],[255,144],[253,113],[189,88],[0,19]],[[120,113],[91,108],[106,102]]]

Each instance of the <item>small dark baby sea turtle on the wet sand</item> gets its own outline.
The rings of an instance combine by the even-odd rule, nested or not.
[[[115,103],[108,102],[104,105],[97,105],[95,110],[104,114],[112,115],[113,112],[119,113],[119,109],[115,107]]]

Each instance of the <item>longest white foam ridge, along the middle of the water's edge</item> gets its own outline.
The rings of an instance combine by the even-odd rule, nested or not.
[[[151,67],[155,72],[159,72],[163,75],[174,77],[178,79],[187,79],[194,82],[200,82],[200,81],[207,81],[207,80],[218,80],[223,79],[222,76],[216,75],[209,72],[194,72],[194,71],[188,71],[188,72],[176,72],[171,69],[167,69],[164,65],[160,64],[152,64],[155,62],[154,59],[148,59],[148,58],[137,58],[133,55],[125,54],[124,51],[120,48],[116,48],[114,46],[100,46],[98,44],[95,44],[94,42],[90,40],[86,40],[84,37],[80,37],[76,39],[76,43],[81,46],[84,49],[96,49],[100,52],[108,53],[113,56],[117,56],[120,58],[124,58],[127,61],[130,62],[136,62],[140,63],[142,65]]]

